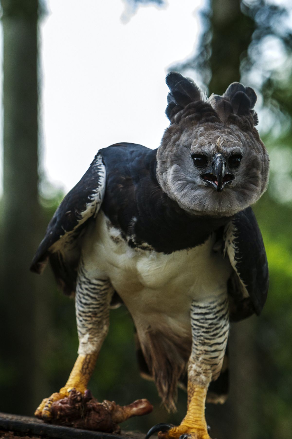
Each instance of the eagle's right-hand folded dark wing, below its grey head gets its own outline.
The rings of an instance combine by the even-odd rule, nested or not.
[[[267,299],[269,273],[263,238],[250,207],[225,226],[223,238],[224,254],[234,270],[228,284],[230,318],[259,315]]]

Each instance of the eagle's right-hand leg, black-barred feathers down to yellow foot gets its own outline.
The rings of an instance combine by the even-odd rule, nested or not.
[[[188,363],[187,412],[178,427],[153,427],[146,438],[159,431],[159,439],[210,439],[205,420],[208,386],[218,378],[229,333],[229,304],[226,295],[191,306],[192,353]]]

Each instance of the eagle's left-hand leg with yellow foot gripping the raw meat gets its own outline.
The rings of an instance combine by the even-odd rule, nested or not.
[[[78,358],[67,383],[60,392],[53,393],[35,410],[35,416],[48,420],[54,401],[68,396],[71,389],[84,393],[91,377],[102,342],[109,329],[109,304],[113,287],[108,279],[97,278],[86,270],[83,261],[79,265],[75,297],[77,331],[79,338]]]

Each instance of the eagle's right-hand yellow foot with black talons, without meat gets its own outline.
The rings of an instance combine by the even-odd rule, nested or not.
[[[174,427],[171,424],[157,424],[147,433],[145,439],[158,432],[158,439],[211,439],[207,425],[181,424]]]

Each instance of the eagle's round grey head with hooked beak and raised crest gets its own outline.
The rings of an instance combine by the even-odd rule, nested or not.
[[[195,214],[232,216],[256,202],[267,187],[269,158],[255,128],[254,90],[232,83],[207,99],[177,72],[166,83],[170,126],[157,151],[162,190]]]

